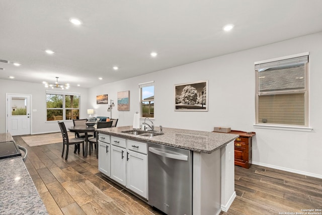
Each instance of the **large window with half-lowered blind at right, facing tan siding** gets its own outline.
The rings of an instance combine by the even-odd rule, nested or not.
[[[256,123],[308,126],[308,53],[255,63]]]

